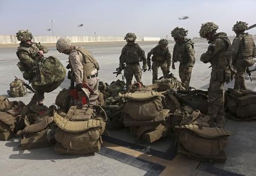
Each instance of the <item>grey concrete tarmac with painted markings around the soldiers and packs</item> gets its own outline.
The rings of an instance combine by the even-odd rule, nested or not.
[[[147,54],[157,42],[138,42]],[[97,44],[79,44],[92,52],[100,65],[99,78],[111,83],[117,78],[112,72],[119,66],[119,55],[125,42],[108,42]],[[196,63],[193,67],[191,86],[197,89],[207,89],[210,79],[210,65],[200,62],[200,55],[207,50],[207,41],[195,41]],[[172,53],[174,42],[169,44]],[[14,76],[22,79],[16,63],[16,48],[0,48],[0,95],[10,101],[21,100],[27,104],[32,93],[27,96],[10,98],[6,91]],[[54,46],[49,46],[45,55],[55,55],[63,65],[67,65],[68,55],[59,53]],[[179,63],[176,70],[171,72],[179,79]],[[250,69],[253,69],[251,67]],[[162,76],[159,69],[158,76]],[[246,75],[247,87],[256,91],[255,72],[253,81]],[[152,72],[142,74],[144,84],[151,84]],[[45,94],[44,104],[55,103],[59,91],[69,87],[66,78],[59,88]],[[233,88],[234,82],[225,84],[225,88]],[[18,148],[19,138],[0,141],[0,170],[1,175],[256,175],[256,122],[234,122],[228,120],[225,128],[232,131],[229,145],[226,148],[228,160],[224,164],[200,162],[177,154],[175,134],[160,139],[153,144],[137,140],[126,129],[109,131],[110,136],[104,136],[101,151],[94,156],[71,156],[57,154],[54,147],[22,151]]]

